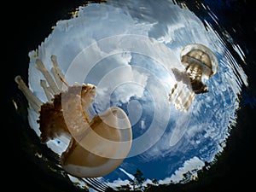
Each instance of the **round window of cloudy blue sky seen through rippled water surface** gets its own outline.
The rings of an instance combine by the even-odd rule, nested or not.
[[[242,91],[251,86],[243,69],[246,49],[220,26],[218,15],[206,4],[197,4],[207,13],[199,17],[189,9],[189,3],[113,0],[88,3],[76,9],[72,18],[58,20],[44,41],[33,44],[34,49],[26,53],[27,84],[46,102],[40,85],[44,77],[34,63],[39,58],[50,69],[50,56],[56,55],[68,84],[96,85],[91,116],[109,107],[127,113],[133,134],[131,150],[108,175],[73,177],[59,161],[67,138],[41,144],[38,113],[27,108],[30,135],[23,142],[33,147],[26,153],[32,154],[37,165],[44,165],[44,172],[84,190],[120,186],[145,190],[148,184],[197,180],[197,172],[224,151],[230,130],[236,127]],[[180,52],[187,44],[212,49],[218,69],[205,82],[209,92],[196,95],[185,113],[177,110],[168,96],[177,80],[173,69],[183,70]],[[247,102],[253,105],[250,99]],[[136,180],[137,170],[143,173],[143,181]]]

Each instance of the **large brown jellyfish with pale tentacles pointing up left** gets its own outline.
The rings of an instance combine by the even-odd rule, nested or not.
[[[41,60],[37,69],[44,75],[41,86],[48,102],[35,96],[17,76],[15,82],[38,113],[42,143],[66,135],[70,142],[61,154],[61,166],[75,177],[102,177],[113,172],[131,149],[131,124],[126,113],[108,108],[90,119],[88,108],[96,96],[93,84],[68,85],[56,56],[51,56],[52,76]],[[48,84],[48,85],[47,85]]]

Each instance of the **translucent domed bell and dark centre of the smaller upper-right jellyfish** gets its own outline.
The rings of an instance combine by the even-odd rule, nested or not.
[[[195,94],[207,92],[204,80],[217,73],[218,68],[218,60],[212,50],[203,44],[188,44],[182,49],[180,57]]]

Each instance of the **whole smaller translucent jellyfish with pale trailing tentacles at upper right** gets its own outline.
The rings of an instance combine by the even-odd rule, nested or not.
[[[182,49],[180,58],[185,70],[172,69],[177,84],[172,88],[169,101],[178,110],[187,111],[196,94],[209,91],[205,81],[217,73],[218,60],[203,44],[188,44]]]

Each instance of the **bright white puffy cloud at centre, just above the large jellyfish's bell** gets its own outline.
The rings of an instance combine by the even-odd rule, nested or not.
[[[108,62],[115,62],[119,67],[106,74],[97,84],[96,107],[98,111],[104,111],[110,106],[119,106],[129,102],[132,96],[143,97],[144,89],[148,83],[148,73],[141,72],[139,67],[131,66],[131,54],[112,55]],[[105,65],[109,65],[106,63]],[[108,88],[108,89],[107,89]]]

